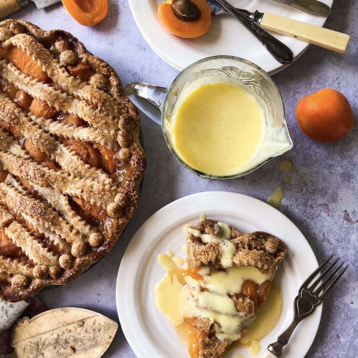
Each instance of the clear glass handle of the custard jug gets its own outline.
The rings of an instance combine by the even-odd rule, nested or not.
[[[131,102],[159,125],[161,125],[161,111],[168,91],[167,87],[143,82],[130,82],[125,87],[126,95]]]

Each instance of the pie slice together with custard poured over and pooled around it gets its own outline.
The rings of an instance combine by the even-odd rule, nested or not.
[[[285,250],[277,238],[267,233],[241,234],[226,223],[212,220],[205,220],[197,227],[187,226],[185,232],[187,268],[178,267],[166,254],[158,256],[167,273],[155,287],[156,306],[173,325],[188,328],[192,358],[198,358],[203,352],[210,357],[220,357],[229,344],[240,340],[255,318],[256,310],[265,303]],[[274,243],[277,244],[275,250],[272,249]],[[267,252],[269,246],[271,255]],[[262,250],[258,250],[260,248]],[[261,261],[256,261],[258,267],[238,265],[243,250],[252,251],[248,254],[251,257],[261,257]],[[263,257],[271,259],[272,265],[265,263]],[[253,262],[251,260],[251,264]],[[278,320],[282,300],[275,292],[277,290],[272,297],[276,298],[276,304],[271,302],[275,308],[274,319],[269,318],[270,310],[265,310],[266,325],[257,328],[257,335],[251,336],[250,342],[265,335],[267,327],[272,328]],[[240,345],[244,342],[242,340]],[[255,344],[251,349],[255,350]]]

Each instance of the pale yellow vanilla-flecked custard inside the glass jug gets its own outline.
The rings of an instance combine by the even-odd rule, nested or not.
[[[232,175],[251,163],[262,141],[263,109],[232,83],[203,83],[178,105],[173,145],[185,163],[212,175]]]

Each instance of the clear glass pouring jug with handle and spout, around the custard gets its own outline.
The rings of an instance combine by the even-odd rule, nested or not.
[[[264,113],[264,132],[260,150],[245,167],[231,175],[203,173],[186,163],[175,149],[172,128],[175,113],[185,96],[203,83],[230,82],[251,93]],[[209,179],[231,179],[251,173],[272,158],[292,148],[281,93],[269,74],[250,61],[233,56],[202,59],[185,68],[169,88],[131,82],[125,87],[129,99],[153,121],[161,125],[166,144],[185,168]],[[160,113],[161,112],[161,113]]]

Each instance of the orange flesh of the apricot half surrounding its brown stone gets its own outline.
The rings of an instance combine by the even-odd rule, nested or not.
[[[171,34],[184,38],[199,37],[208,31],[211,24],[210,6],[205,0],[190,0],[200,11],[200,16],[194,21],[180,20],[173,11],[171,3],[167,0],[158,7],[158,16],[161,24]]]

